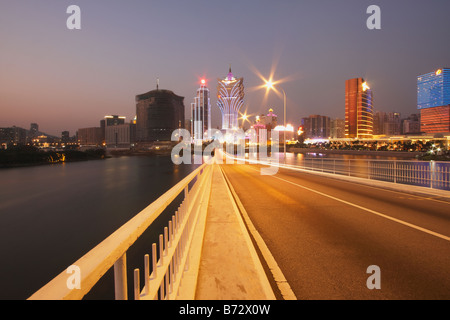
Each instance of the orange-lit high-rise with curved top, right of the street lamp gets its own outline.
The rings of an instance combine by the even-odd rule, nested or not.
[[[372,138],[373,97],[372,90],[363,78],[345,82],[345,137]]]

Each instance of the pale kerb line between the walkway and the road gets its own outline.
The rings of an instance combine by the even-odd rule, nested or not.
[[[242,205],[242,202],[240,201],[236,191],[234,190],[230,180],[228,179],[227,175],[225,174],[224,169],[222,166],[219,166],[220,170],[222,170],[223,177],[227,181],[229,190],[236,202],[237,207],[239,208],[239,211],[241,212],[245,223],[247,224],[247,228],[249,229],[250,233],[253,236],[253,239],[255,239],[255,242],[261,251],[261,254],[264,257],[264,260],[266,260],[266,263],[272,272],[273,278],[275,280],[275,283],[278,286],[278,289],[280,290],[281,295],[283,296],[284,300],[297,300],[297,297],[295,293],[292,291],[291,286],[286,280],[286,277],[284,276],[283,272],[281,271],[280,267],[278,266],[275,258],[273,257],[272,253],[270,252],[269,248],[267,247],[266,243],[264,242],[264,239],[259,234],[258,230],[256,230],[255,226],[253,225],[252,221],[250,220],[250,217],[248,216],[247,211],[245,210],[244,206]]]

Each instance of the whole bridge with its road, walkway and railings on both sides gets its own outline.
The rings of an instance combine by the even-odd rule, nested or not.
[[[450,298],[448,164],[225,158],[199,166],[29,299],[83,299],[111,268],[117,300]],[[261,174],[270,167],[276,174]],[[144,268],[130,270],[127,251],[176,201]],[[369,286],[373,266],[381,289]]]

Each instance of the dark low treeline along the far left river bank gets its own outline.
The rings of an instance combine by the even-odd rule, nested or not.
[[[106,152],[103,149],[41,151],[33,146],[12,146],[6,150],[0,150],[0,167],[97,160],[104,159],[105,156]]]

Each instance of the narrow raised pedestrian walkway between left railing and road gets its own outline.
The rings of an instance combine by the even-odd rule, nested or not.
[[[218,164],[213,165],[195,299],[275,299]]]

